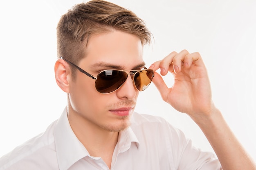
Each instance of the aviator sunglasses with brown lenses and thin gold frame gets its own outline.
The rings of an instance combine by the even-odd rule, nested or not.
[[[80,72],[96,80],[95,88],[98,92],[103,94],[111,93],[119,89],[124,84],[129,74],[133,74],[133,83],[139,91],[145,90],[154,77],[154,71],[152,69],[147,69],[146,67],[144,67],[144,70],[103,70],[99,72],[97,77],[94,77],[74,63],[64,59],[62,56],[61,59],[74,65]],[[129,71],[128,74],[127,71]]]

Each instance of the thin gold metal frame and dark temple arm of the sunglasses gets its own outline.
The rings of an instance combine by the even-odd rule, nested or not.
[[[97,78],[98,78],[99,74],[101,74],[101,72],[108,71],[108,70],[103,70],[103,71],[99,72],[99,74],[97,75],[97,77],[94,77],[92,74],[86,72],[85,70],[81,69],[79,66],[77,66],[77,65],[75,65],[74,63],[68,61],[67,59],[63,58],[62,56],[61,56],[60,58],[63,59],[64,61],[66,61],[67,63],[70,63],[71,65],[75,66],[80,72],[82,72],[83,74],[89,76],[90,78],[92,78],[92,79],[94,79],[94,80],[97,80]],[[152,69],[146,68],[145,66],[144,66],[143,68],[144,68],[144,70],[152,70]],[[116,70],[116,69],[112,69],[112,70]],[[128,74],[133,74],[133,78],[132,78],[132,79],[134,79],[135,74],[136,74],[137,72],[141,71],[141,70],[117,70],[117,71],[123,71],[123,72],[125,72],[125,71],[130,71]],[[128,75],[128,74],[127,74],[127,75]],[[153,77],[154,77],[154,72],[153,72],[153,75],[152,75],[152,79],[153,79]],[[152,79],[151,79],[151,81],[152,81]],[[132,80],[132,81],[134,81],[134,80]],[[150,83],[151,83],[151,82],[150,82]],[[149,84],[150,84],[150,83],[149,83]],[[134,84],[135,84],[135,82],[134,82]],[[122,85],[123,85],[123,84],[122,84]],[[122,85],[121,85],[121,86],[122,86]],[[120,87],[121,87],[121,86],[120,86]],[[135,86],[136,86],[136,85],[135,85]],[[117,89],[119,89],[120,87],[118,87]],[[95,88],[96,88],[96,87],[95,87]],[[115,89],[115,90],[112,91],[112,92],[115,92],[117,89]],[[137,89],[137,87],[136,87],[136,89]],[[96,88],[96,90],[97,90],[97,88]],[[137,89],[137,90],[140,91],[139,89]],[[145,89],[144,89],[144,90],[145,90]],[[98,91],[98,90],[97,90],[97,91]],[[141,90],[141,91],[143,91],[143,90]],[[141,91],[140,91],[140,92],[141,92]],[[99,92],[99,91],[98,91],[98,92]],[[112,93],[112,92],[108,92],[108,93],[99,92],[99,93],[101,93],[101,94],[109,94],[109,93]]]

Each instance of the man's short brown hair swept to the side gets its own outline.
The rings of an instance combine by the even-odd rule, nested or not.
[[[151,40],[145,22],[135,13],[111,2],[91,0],[76,4],[61,16],[57,26],[57,56],[77,64],[85,57],[85,47],[91,35],[112,30],[136,35],[142,45]]]

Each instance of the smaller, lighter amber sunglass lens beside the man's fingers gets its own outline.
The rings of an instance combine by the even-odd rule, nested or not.
[[[154,77],[154,71],[151,69],[141,70],[134,75],[135,86],[139,91],[145,90]]]

